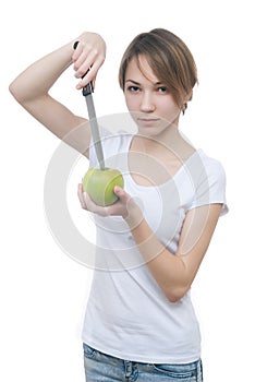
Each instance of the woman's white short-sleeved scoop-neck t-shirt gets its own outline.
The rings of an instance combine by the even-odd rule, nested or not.
[[[226,177],[219,162],[196,151],[169,181],[138,186],[129,174],[132,134],[104,140],[107,167],[124,176],[124,189],[136,198],[144,216],[169,251],[175,253],[185,214],[204,204],[222,203]],[[89,152],[95,167],[94,148]],[[187,294],[170,302],[139,254],[127,225],[119,216],[95,216],[97,258],[87,303],[83,341],[125,360],[187,363],[201,357],[198,322]]]

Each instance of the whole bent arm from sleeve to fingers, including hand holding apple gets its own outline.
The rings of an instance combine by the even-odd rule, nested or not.
[[[207,204],[186,213],[179,248],[171,253],[148,226],[137,204],[121,188],[116,187],[119,201],[107,207],[97,206],[78,186],[84,210],[101,216],[120,215],[127,223],[135,243],[150,273],[171,302],[180,300],[190,289],[214,235],[222,205]]]

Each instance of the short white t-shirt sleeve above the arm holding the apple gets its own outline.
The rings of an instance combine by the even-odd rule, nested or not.
[[[199,177],[194,184],[195,193],[189,210],[206,205],[220,203],[222,210],[220,215],[228,213],[226,201],[226,172],[222,165],[215,159],[207,158],[204,162]]]

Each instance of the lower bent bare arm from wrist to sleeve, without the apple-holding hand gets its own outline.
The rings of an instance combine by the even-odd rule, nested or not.
[[[139,252],[171,302],[180,300],[190,289],[210,243],[221,207],[221,204],[210,204],[187,212],[175,254],[160,243],[144,218],[139,224],[136,219],[136,225],[135,220],[130,223]]]

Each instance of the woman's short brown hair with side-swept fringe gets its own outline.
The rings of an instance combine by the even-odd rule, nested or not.
[[[187,46],[173,33],[162,28],[136,36],[127,46],[120,64],[119,83],[123,91],[126,69],[133,58],[143,71],[139,56],[147,59],[155,75],[169,88],[177,105],[184,111],[186,100],[192,98],[193,87],[198,82],[196,64]]]

